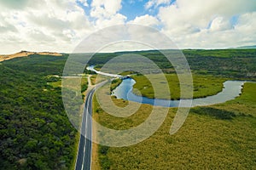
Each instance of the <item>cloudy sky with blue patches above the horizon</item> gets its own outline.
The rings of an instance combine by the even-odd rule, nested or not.
[[[0,8],[0,54],[72,53],[94,32],[128,24],[153,27],[177,48],[256,44],[255,0],[0,0]]]

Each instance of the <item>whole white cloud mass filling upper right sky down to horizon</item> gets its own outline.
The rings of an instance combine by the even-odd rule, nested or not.
[[[160,7],[158,17],[162,32],[180,48],[226,48],[243,42],[256,43],[256,39],[247,38],[248,34],[255,35],[253,11],[253,0],[177,0]],[[235,15],[239,20],[237,26],[232,26],[231,18]]]

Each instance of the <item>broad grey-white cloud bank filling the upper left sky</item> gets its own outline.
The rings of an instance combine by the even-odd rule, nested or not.
[[[84,10],[74,0],[23,3],[22,8],[15,8],[16,3],[0,3],[1,54],[21,49],[72,52],[93,31]]]

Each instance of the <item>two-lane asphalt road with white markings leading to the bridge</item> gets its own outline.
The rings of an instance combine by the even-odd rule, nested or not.
[[[106,82],[104,81],[96,85],[95,88],[92,88],[86,95],[85,105],[84,105],[84,114],[82,118],[82,125],[80,129],[80,141],[79,141],[79,150],[78,157],[75,165],[76,170],[90,170],[91,169],[91,113],[92,113],[92,99],[93,94],[96,91],[96,88],[102,87]],[[86,137],[86,138],[85,138]]]

